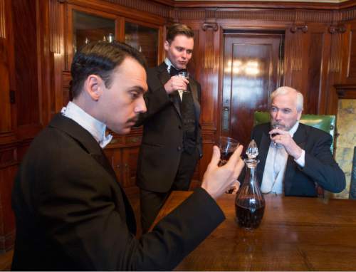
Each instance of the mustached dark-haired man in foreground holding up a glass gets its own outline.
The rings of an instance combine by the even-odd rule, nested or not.
[[[218,167],[214,147],[201,187],[135,238],[132,208],[103,147],[106,125],[128,133],[146,111],[144,67],[122,43],[90,43],[75,54],[73,101],[33,140],[16,175],[12,270],[171,270],[224,220],[214,199],[241,171],[241,148]]]

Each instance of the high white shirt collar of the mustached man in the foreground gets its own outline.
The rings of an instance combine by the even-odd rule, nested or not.
[[[99,143],[100,147],[104,148],[111,141],[112,135],[105,135],[106,125],[88,113],[85,113],[85,111],[75,103],[69,101],[67,107],[62,108],[61,113],[63,116],[77,122],[85,130],[88,130]]]

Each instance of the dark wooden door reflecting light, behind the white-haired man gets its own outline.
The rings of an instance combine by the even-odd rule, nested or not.
[[[248,145],[253,112],[268,110],[283,75],[283,33],[225,33],[221,135]]]

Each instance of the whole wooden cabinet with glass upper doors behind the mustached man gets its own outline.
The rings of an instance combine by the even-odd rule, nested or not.
[[[162,32],[164,21],[131,12],[120,13],[119,9],[95,10],[93,6],[68,4],[66,23],[66,69],[63,71],[63,104],[70,100],[70,65],[75,52],[92,41],[121,41],[142,52],[149,67],[157,66],[163,58]],[[137,15],[137,18],[134,17]],[[158,20],[158,21],[155,21]],[[115,114],[115,113],[112,113]],[[115,135],[105,154],[117,179],[125,189],[135,188],[137,155],[141,142],[142,129],[132,128],[129,135]],[[135,190],[132,192],[136,192]]]

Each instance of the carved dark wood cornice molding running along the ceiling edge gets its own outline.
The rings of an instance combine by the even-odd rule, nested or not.
[[[4,1],[4,0],[2,0]],[[57,0],[58,2],[75,3],[75,0]],[[119,4],[132,9],[156,14],[166,19],[204,20],[206,9],[214,9],[215,19],[251,19],[266,21],[312,21],[333,22],[356,19],[356,5],[347,6],[315,3],[277,3],[266,2],[262,6],[256,3],[224,3],[216,4],[210,1],[173,1],[173,0],[103,0],[111,4]],[[226,3],[225,3],[226,4]],[[232,6],[231,6],[232,4]],[[260,3],[261,4],[261,3]],[[296,7],[295,7],[296,5]],[[342,9],[339,8],[342,7]],[[243,7],[243,8],[242,8]]]

